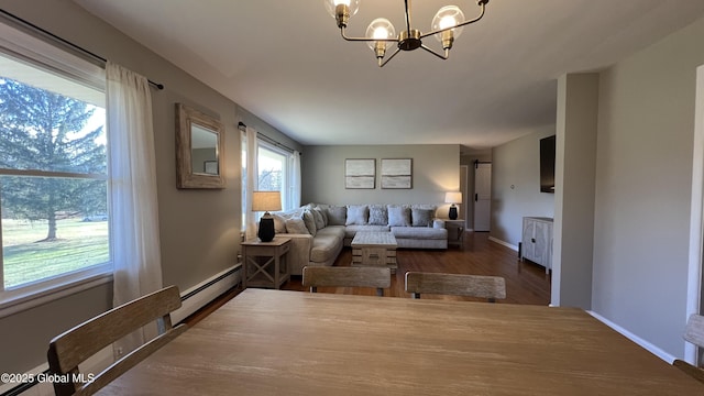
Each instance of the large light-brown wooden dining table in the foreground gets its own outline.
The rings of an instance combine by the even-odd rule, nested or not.
[[[576,308],[246,289],[101,395],[704,395]]]

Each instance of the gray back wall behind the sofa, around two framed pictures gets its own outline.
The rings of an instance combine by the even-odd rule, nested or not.
[[[376,158],[376,188],[345,189],[345,158]],[[382,189],[382,158],[413,158],[413,189]],[[453,144],[306,146],[301,163],[302,204],[437,204],[444,207],[444,193],[460,188],[460,146]]]

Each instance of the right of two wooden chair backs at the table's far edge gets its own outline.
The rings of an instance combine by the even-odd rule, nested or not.
[[[497,298],[506,298],[506,280],[499,276],[407,272],[406,293],[411,293],[414,298],[420,298],[421,293],[430,293],[486,298],[496,302]]]

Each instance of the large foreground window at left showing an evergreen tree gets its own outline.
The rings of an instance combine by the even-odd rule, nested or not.
[[[0,41],[0,307],[112,267],[102,70],[29,36],[11,45]]]

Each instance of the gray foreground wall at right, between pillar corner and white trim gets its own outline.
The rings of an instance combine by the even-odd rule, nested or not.
[[[704,19],[600,76],[594,311],[676,356]]]

